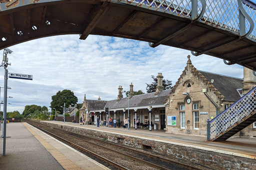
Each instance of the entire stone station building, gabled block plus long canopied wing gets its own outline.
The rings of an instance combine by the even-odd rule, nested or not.
[[[120,118],[123,122],[129,110],[130,127],[134,127],[136,118],[140,124],[151,121],[152,129],[165,133],[206,137],[207,120],[212,120],[256,85],[251,70],[244,68],[243,73],[241,79],[199,71],[188,55],[186,66],[171,90],[163,90],[163,76],[158,73],[156,92],[134,96],[131,83],[128,97],[123,97],[122,86],[118,87],[117,99],[110,101],[87,100],[84,95],[79,114],[92,124],[96,124],[96,117],[101,121]],[[237,135],[256,136],[256,123]]]

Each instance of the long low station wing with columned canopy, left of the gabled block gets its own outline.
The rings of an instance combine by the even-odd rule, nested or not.
[[[142,128],[145,121],[151,122],[151,127],[155,129],[165,129],[165,106],[164,100],[169,94],[170,90],[163,90],[161,73],[157,76],[156,92],[147,93],[134,96],[133,85],[129,85],[129,96],[123,97],[122,86],[118,87],[117,99],[110,101],[87,100],[84,95],[82,107],[79,110],[80,117],[84,117],[85,121],[91,120],[96,124],[96,117],[102,121],[108,120],[109,117],[113,119],[120,118],[124,122],[125,118],[130,118],[130,127],[135,127],[134,119],[139,119],[140,124],[137,128]],[[106,110],[107,108],[107,110]],[[87,111],[87,114],[86,114]]]

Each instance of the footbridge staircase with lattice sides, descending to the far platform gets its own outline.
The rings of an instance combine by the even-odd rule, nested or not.
[[[207,141],[225,141],[256,121],[256,87],[211,121]]]

